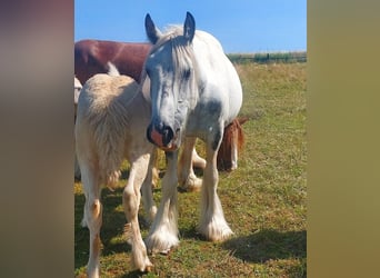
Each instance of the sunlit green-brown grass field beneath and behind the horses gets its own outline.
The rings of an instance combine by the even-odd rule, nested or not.
[[[101,277],[307,276],[307,64],[236,67],[243,87],[240,116],[250,120],[243,126],[246,145],[239,168],[220,172],[218,187],[234,236],[224,242],[204,241],[197,232],[199,192],[179,192],[180,245],[168,256],[150,256],[152,272],[131,271],[130,246],[122,236],[126,180],[120,180],[116,191],[102,192]],[[202,143],[197,147],[203,153]],[[157,203],[160,193],[160,187],[154,189]],[[79,182],[74,198],[74,275],[86,277],[89,232],[80,226],[84,196]],[[146,237],[149,227],[142,209],[139,219]]]

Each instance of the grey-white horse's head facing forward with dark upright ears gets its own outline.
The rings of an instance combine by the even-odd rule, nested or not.
[[[152,103],[147,136],[158,147],[176,150],[198,95],[191,48],[196,22],[188,12],[183,29],[177,27],[162,34],[147,14],[146,31],[153,43],[144,64]]]

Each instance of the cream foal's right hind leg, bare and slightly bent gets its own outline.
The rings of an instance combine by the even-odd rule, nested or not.
[[[132,245],[132,262],[133,267],[140,271],[149,271],[153,266],[147,255],[146,245],[142,241],[139,227],[139,205],[140,205],[140,189],[142,181],[146,178],[149,165],[149,155],[140,156],[139,158],[130,159],[131,169],[128,178],[128,183],[124,188],[122,201],[127,220],[124,231]],[[151,190],[151,189],[150,189]]]

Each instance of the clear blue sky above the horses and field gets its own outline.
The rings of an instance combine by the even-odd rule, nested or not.
[[[74,41],[147,41],[148,12],[162,30],[187,11],[227,53],[307,50],[307,0],[74,0]]]

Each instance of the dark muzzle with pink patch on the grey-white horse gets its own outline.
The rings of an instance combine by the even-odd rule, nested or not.
[[[174,132],[172,128],[164,126],[163,123],[150,123],[147,129],[147,138],[151,143],[166,151],[176,150],[178,148],[174,143]]]

